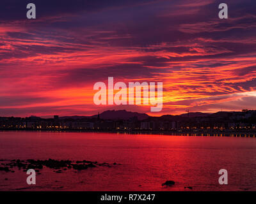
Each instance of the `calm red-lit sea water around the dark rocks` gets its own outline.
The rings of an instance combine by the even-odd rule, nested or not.
[[[2,162],[49,158],[117,165],[44,168],[34,186],[22,170],[0,171],[0,191],[256,191],[256,138],[0,132]],[[220,169],[228,171],[228,185],[218,183]],[[166,180],[175,185],[162,187]]]

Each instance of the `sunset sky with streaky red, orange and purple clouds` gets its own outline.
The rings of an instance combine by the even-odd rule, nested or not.
[[[256,109],[256,1],[1,0],[0,39],[0,116]],[[163,82],[163,110],[94,105],[108,77]]]

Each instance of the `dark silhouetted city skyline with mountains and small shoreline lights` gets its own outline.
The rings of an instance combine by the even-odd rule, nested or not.
[[[40,131],[172,131],[175,133],[253,133],[255,137],[256,110],[242,112],[188,113],[182,115],[162,115],[150,117],[145,113],[125,110],[108,110],[92,116],[54,115],[52,118],[40,117],[0,117],[1,130],[40,130]],[[245,134],[246,136],[246,134]],[[250,136],[250,134],[248,134]]]

